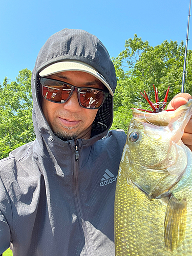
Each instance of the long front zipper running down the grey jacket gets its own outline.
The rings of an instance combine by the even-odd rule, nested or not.
[[[78,143],[75,144],[75,169],[74,169],[74,195],[75,195],[75,203],[77,205],[77,212],[80,217],[80,221],[82,223],[82,229],[84,233],[84,239],[85,239],[85,245],[84,248],[86,250],[86,254],[91,256],[92,253],[90,251],[89,245],[88,245],[88,231],[86,227],[86,223],[83,218],[83,212],[81,208],[81,202],[80,202],[80,195],[79,195],[79,184],[78,184],[78,161],[79,161],[79,148]]]

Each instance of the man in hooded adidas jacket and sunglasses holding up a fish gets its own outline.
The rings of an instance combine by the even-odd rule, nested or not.
[[[108,132],[115,87],[108,52],[86,31],[64,29],[41,48],[32,74],[36,139],[1,161],[0,254],[11,246],[14,256],[115,255],[126,139]],[[181,96],[173,108],[190,97]]]

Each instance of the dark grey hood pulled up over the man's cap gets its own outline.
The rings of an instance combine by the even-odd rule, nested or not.
[[[116,75],[113,62],[102,42],[94,35],[74,29],[63,29],[52,35],[40,49],[32,72],[33,124],[37,140],[42,137],[64,145],[66,142],[57,138],[42,113],[39,102],[38,74],[53,63],[63,60],[78,60],[96,69],[109,83],[112,91],[116,88]],[[95,141],[104,137],[113,122],[113,97],[106,98],[98,110],[92,125],[92,138]],[[88,140],[89,141],[89,140]],[[88,143],[88,142],[87,142]]]

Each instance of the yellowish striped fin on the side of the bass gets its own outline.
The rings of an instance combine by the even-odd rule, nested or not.
[[[184,240],[186,212],[186,200],[179,201],[172,195],[167,204],[164,221],[164,241],[167,250],[177,249]]]

